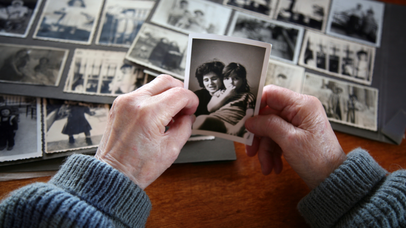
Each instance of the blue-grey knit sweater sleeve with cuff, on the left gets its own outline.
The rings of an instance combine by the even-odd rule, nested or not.
[[[0,204],[0,227],[143,227],[147,194],[92,156],[74,154],[48,183],[31,184]]]

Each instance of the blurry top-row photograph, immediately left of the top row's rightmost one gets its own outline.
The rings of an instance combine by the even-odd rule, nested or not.
[[[279,0],[275,17],[324,32],[327,25],[331,0]]]

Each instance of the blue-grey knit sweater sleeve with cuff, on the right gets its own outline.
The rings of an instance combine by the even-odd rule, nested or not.
[[[406,171],[387,175],[362,149],[298,204],[312,227],[405,227]]]

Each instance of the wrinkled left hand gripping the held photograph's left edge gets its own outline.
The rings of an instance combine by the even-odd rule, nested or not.
[[[150,185],[172,165],[191,134],[199,101],[183,86],[169,75],[160,75],[117,97],[95,157],[141,189]]]

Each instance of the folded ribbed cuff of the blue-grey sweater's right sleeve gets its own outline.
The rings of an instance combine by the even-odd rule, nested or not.
[[[298,204],[312,227],[331,227],[381,180],[387,171],[367,151],[357,148]]]

